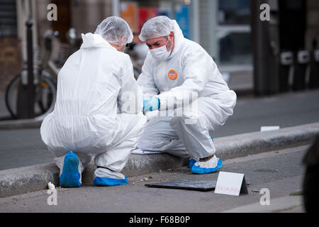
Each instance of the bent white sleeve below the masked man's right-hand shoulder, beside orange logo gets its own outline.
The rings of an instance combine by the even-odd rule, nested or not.
[[[198,98],[198,94],[206,87],[209,77],[214,77],[216,64],[206,52],[194,50],[183,60],[183,84],[158,95],[160,110],[177,109],[190,104]]]

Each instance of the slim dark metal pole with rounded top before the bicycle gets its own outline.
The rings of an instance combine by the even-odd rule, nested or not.
[[[27,26],[27,55],[28,55],[28,118],[34,118],[35,86],[33,83],[33,37],[32,20],[26,22]]]

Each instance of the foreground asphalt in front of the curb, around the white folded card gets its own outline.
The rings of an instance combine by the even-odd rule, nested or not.
[[[74,189],[57,187],[56,205],[47,204],[50,196],[47,190],[9,196],[0,199],[0,212],[216,213],[236,208],[242,212],[303,212],[300,192],[305,172],[302,160],[307,148],[302,146],[225,160],[220,171],[245,175],[248,194],[240,196],[145,187],[148,183],[177,179],[218,179],[218,172],[192,175],[183,167],[128,177],[127,185],[116,187],[96,187],[94,184]],[[260,204],[262,189],[269,189],[270,205]],[[280,203],[276,203],[278,199]],[[248,204],[254,204],[254,209],[245,208]]]

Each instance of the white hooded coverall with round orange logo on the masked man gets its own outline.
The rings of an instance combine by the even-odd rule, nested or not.
[[[147,122],[138,148],[179,157],[208,157],[216,152],[209,132],[233,115],[236,94],[228,88],[206,50],[184,38],[177,22],[172,23],[174,50],[169,59],[158,62],[148,52],[138,78],[144,95],[157,96],[160,102],[159,111],[147,112],[154,117]],[[194,92],[198,98],[189,99]],[[197,102],[196,111],[177,114],[177,109],[192,101]],[[172,110],[174,114],[169,114]]]

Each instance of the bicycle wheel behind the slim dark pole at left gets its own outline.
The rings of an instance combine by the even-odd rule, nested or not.
[[[50,73],[43,71],[41,82],[35,87],[35,117],[41,118],[53,111],[57,97],[57,85]],[[12,118],[18,118],[18,91],[21,75],[16,76],[6,89],[6,108]]]

